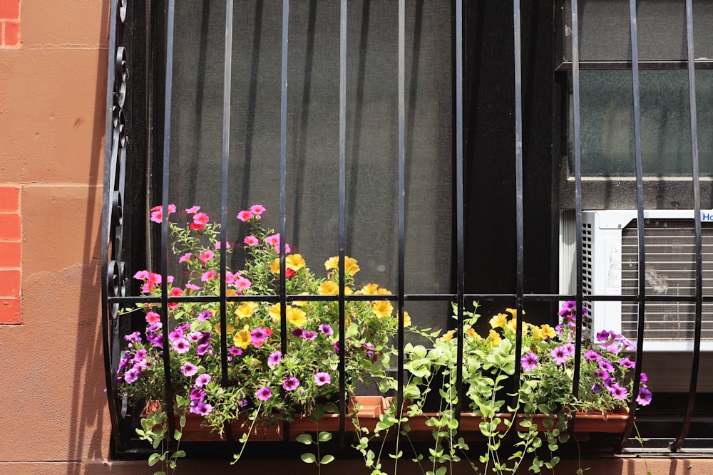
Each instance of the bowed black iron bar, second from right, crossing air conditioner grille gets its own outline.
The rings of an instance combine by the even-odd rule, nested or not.
[[[639,244],[639,279],[638,279],[638,319],[636,335],[636,366],[634,375],[634,387],[632,388],[632,398],[629,404],[629,419],[627,419],[624,436],[620,444],[620,451],[624,449],[629,440],[632,428],[634,427],[634,414],[636,412],[636,395],[639,393],[641,383],[641,368],[644,355],[644,310],[646,298],[646,257],[644,242],[644,184],[643,169],[641,163],[641,106],[639,92],[639,45],[637,41],[637,21],[636,21],[636,0],[629,1],[629,22],[631,33],[631,76],[632,95],[634,102],[634,157],[636,165],[636,229],[637,241]]]

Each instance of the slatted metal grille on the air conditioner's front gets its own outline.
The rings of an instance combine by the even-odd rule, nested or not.
[[[695,230],[690,219],[647,219],[645,229],[647,296],[695,294]],[[713,293],[713,227],[702,223],[703,294]],[[622,229],[622,295],[635,295],[639,256],[636,221]],[[713,340],[713,304],[703,304],[702,340]],[[693,302],[652,302],[645,306],[646,340],[693,340]],[[635,340],[637,306],[622,302],[622,334]]]

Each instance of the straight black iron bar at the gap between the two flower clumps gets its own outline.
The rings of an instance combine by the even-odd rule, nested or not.
[[[403,410],[404,400],[404,293],[405,282],[405,252],[406,252],[406,149],[405,149],[405,122],[406,122],[406,1],[399,0],[399,331],[396,340],[399,345],[397,358],[399,388],[396,400],[399,407],[399,419]]]

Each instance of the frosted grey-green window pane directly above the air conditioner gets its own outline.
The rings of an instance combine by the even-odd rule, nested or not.
[[[713,71],[696,71],[699,167],[713,174]],[[691,175],[688,73],[640,71],[642,166],[652,177]],[[634,122],[631,71],[580,75],[582,173],[633,177]],[[570,100],[570,174],[574,169]]]

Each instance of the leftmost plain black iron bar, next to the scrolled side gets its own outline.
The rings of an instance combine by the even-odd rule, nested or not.
[[[175,0],[168,0],[168,31],[166,33],[166,79],[163,106],[163,183],[161,184],[161,325],[163,325],[163,375],[165,386],[165,409],[168,415],[168,433],[173,435],[173,385],[171,383],[170,343],[168,342],[168,186],[170,183],[171,148],[171,89],[173,86],[173,24],[175,20]]]

